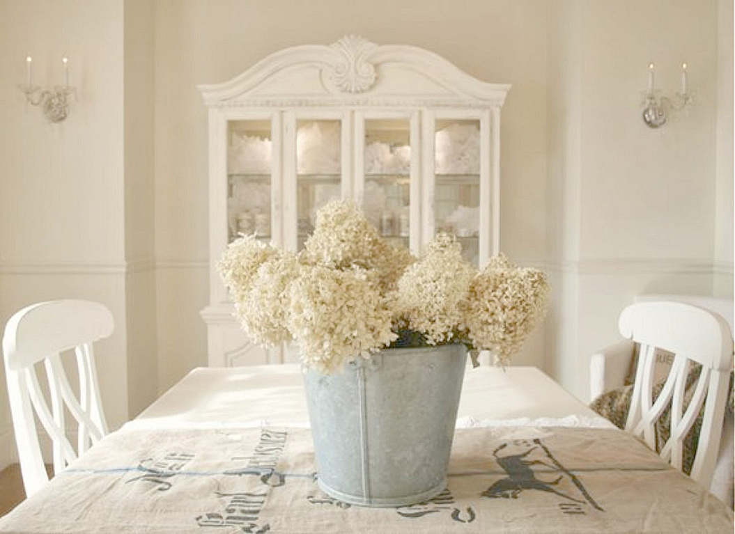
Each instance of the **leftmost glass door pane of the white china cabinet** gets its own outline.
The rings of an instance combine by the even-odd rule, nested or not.
[[[270,121],[232,120],[227,130],[229,241],[238,234],[270,241]]]

